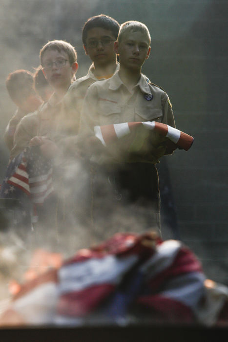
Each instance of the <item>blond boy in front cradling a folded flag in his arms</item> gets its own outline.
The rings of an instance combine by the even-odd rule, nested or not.
[[[160,229],[160,195],[155,164],[166,153],[166,147],[162,141],[160,144],[159,136],[154,135],[152,139],[155,147],[148,159],[141,155],[133,158],[127,154],[119,156],[115,151],[104,150],[100,143],[95,144],[94,126],[155,120],[175,127],[167,94],[160,87],[146,82],[141,73],[142,65],[150,54],[147,27],[138,21],[123,23],[114,49],[120,58],[120,70],[110,79],[96,82],[88,88],[80,133],[88,137],[90,160],[114,186],[118,203],[130,206],[128,217],[135,214],[139,219],[143,214],[141,227]],[[104,213],[104,206],[102,209]],[[113,210],[116,210],[116,205],[113,205]]]

